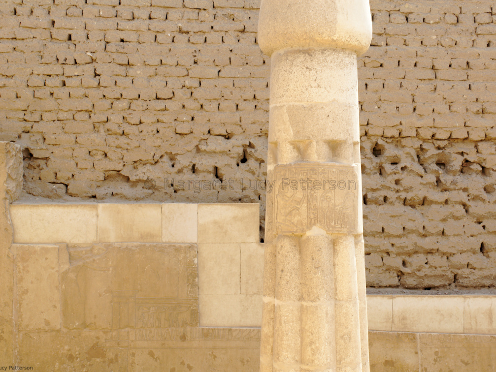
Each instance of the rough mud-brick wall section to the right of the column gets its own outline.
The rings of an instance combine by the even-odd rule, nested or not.
[[[369,286],[496,284],[496,5],[372,1],[359,69]]]

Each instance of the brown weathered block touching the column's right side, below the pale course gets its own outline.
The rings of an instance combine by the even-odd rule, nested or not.
[[[371,371],[419,371],[418,334],[369,331]]]

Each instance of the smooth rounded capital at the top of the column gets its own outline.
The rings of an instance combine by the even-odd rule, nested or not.
[[[337,48],[361,54],[371,40],[369,0],[261,0],[258,44],[267,55],[284,48]]]

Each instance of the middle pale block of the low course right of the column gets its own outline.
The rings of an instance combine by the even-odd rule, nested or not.
[[[393,331],[463,333],[463,297],[395,296]]]

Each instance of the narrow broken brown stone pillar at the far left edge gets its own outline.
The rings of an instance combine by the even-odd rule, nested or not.
[[[14,258],[9,204],[22,191],[22,154],[20,146],[0,142],[0,361],[14,362]]]

